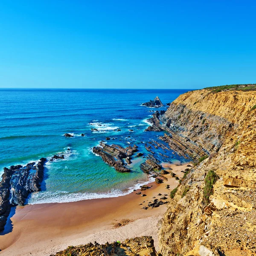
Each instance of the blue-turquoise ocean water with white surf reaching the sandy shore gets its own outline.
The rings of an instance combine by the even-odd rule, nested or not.
[[[92,152],[108,143],[128,146],[157,140],[162,132],[145,132],[152,108],[141,103],[159,96],[163,104],[187,90],[0,90],[0,170],[57,153],[64,160],[47,163],[42,191],[29,204],[68,202],[124,195],[148,182],[135,158],[131,173],[119,173]],[[166,109],[166,107],[160,108]],[[97,128],[99,132],[92,132]],[[120,128],[122,131],[113,131]],[[128,131],[133,129],[134,131]],[[75,135],[66,138],[64,133]],[[85,136],[81,137],[81,133]],[[128,137],[130,136],[130,137]],[[67,151],[70,148],[71,151]],[[159,158],[161,158],[159,156]],[[172,161],[183,160],[175,154]]]

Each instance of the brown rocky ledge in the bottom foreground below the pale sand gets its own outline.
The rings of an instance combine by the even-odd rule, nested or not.
[[[66,250],[51,256],[157,256],[152,237],[143,236],[126,239],[122,243],[98,244],[90,243],[79,246],[70,246]]]

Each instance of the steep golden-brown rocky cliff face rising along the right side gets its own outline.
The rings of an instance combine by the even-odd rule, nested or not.
[[[197,90],[172,102],[159,124],[151,119],[180,154],[209,155],[173,193],[160,230],[163,256],[255,255],[255,105],[255,91]],[[209,172],[218,177],[213,188]]]

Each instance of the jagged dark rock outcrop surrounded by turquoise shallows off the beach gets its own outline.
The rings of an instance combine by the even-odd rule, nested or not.
[[[134,152],[138,151],[136,145],[122,148],[120,145],[107,145],[101,142],[100,146],[101,147],[93,147],[93,153],[102,157],[102,160],[114,167],[117,172],[131,172],[131,170],[125,166],[123,159],[125,158],[127,163],[131,163],[130,157]]]

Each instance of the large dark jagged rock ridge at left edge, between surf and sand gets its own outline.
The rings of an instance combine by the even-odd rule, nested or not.
[[[40,190],[44,176],[44,163],[41,158],[38,164],[11,166],[4,168],[0,182],[0,231],[4,229],[12,206],[23,205],[30,192]]]

